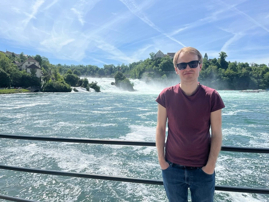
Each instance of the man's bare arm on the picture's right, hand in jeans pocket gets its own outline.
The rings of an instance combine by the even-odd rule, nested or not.
[[[222,132],[221,132],[221,109],[211,112],[210,114],[211,124],[211,146],[208,161],[206,166],[202,167],[202,170],[208,174],[214,173],[217,158],[221,150]]]

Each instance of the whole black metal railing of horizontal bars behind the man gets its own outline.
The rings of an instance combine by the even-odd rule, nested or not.
[[[90,143],[90,144],[110,144],[110,145],[149,146],[149,147],[156,146],[155,142],[144,142],[144,141],[58,138],[58,137],[7,135],[7,134],[0,134],[0,138],[36,140],[36,141]],[[269,154],[269,148],[222,146],[221,151]],[[24,167],[6,166],[6,165],[0,165],[0,169],[21,171],[21,172],[30,172],[30,173],[40,173],[40,174],[47,174],[47,175],[61,175],[61,176],[69,176],[69,177],[82,177],[82,178],[113,180],[113,181],[121,181],[121,182],[133,182],[133,183],[142,183],[142,184],[163,185],[162,180],[155,180],[155,179],[139,179],[139,178],[121,177],[121,176],[84,174],[84,173],[53,171],[53,170],[45,170],[45,169],[33,169],[33,168],[24,168]],[[268,188],[251,188],[251,187],[215,185],[215,190],[217,190],[217,191],[230,191],[230,192],[269,194]],[[18,197],[4,196],[1,194],[0,194],[0,199],[6,199],[6,200],[10,200],[10,201],[19,201],[19,202],[25,202],[25,201],[33,202],[33,200],[22,199],[22,198],[18,198]]]

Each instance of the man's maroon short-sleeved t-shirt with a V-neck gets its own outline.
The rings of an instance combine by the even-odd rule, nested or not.
[[[219,93],[200,85],[186,96],[179,84],[163,89],[156,102],[166,108],[168,136],[165,158],[170,162],[203,167],[210,152],[210,113],[224,108]]]

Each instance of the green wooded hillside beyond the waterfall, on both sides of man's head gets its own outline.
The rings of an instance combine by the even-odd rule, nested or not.
[[[129,78],[146,81],[164,81],[171,74],[174,74],[173,61],[169,56],[153,59],[154,53],[150,53],[150,58],[140,60],[126,65],[124,63],[117,66],[110,64],[103,68],[93,65],[51,65],[46,62],[44,72],[50,72],[57,68],[57,72],[65,74],[67,70],[72,70],[78,76],[115,75],[120,71],[128,74]],[[216,89],[267,89],[269,88],[269,64],[257,64],[247,62],[226,61],[227,54],[219,53],[218,58],[208,59],[207,54],[203,58],[203,67],[200,72],[200,83]]]

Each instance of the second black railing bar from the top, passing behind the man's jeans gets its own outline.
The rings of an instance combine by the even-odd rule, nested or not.
[[[113,180],[113,181],[121,181],[121,182],[134,182],[134,183],[141,183],[141,184],[163,185],[163,181],[157,180],[157,179],[139,179],[139,178],[121,177],[121,176],[85,174],[85,173],[74,173],[74,172],[66,172],[66,171],[52,171],[52,170],[45,170],[45,169],[6,166],[6,165],[1,165],[1,164],[0,164],[0,169],[22,171],[22,172],[29,172],[29,173],[40,173],[40,174],[48,174],[48,175],[61,175],[61,176],[69,176],[69,177],[81,177],[81,178],[103,179],[103,180]],[[215,190],[256,193],[256,194],[269,194],[269,189],[266,189],[266,188],[216,185]]]

